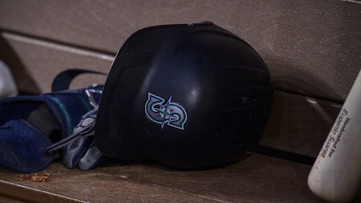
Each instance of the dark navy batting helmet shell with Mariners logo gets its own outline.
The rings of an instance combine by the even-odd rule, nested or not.
[[[227,164],[258,142],[273,92],[263,60],[232,33],[214,24],[145,28],[112,64],[95,141],[113,158]]]

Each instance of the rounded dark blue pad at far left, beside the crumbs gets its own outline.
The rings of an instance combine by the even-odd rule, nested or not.
[[[45,150],[49,144],[50,139],[25,120],[10,120],[0,127],[0,164],[22,173],[39,171],[54,159],[54,153]]]

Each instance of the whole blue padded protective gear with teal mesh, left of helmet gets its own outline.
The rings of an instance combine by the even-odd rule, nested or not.
[[[23,173],[45,168],[55,153],[46,147],[68,137],[99,102],[102,86],[0,100],[0,165]]]

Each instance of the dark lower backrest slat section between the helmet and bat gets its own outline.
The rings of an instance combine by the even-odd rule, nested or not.
[[[341,104],[276,91],[260,144],[317,157]]]

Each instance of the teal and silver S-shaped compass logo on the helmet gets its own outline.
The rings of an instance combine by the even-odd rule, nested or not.
[[[180,104],[171,102],[171,96],[165,104],[163,104],[164,101],[164,98],[148,92],[148,100],[144,105],[146,117],[155,123],[161,124],[161,129],[166,124],[184,130],[184,125],[187,122],[185,108]]]

